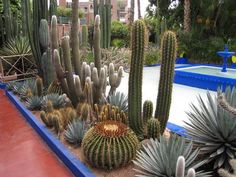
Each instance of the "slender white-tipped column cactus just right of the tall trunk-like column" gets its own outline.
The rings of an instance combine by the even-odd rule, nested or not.
[[[95,67],[100,72],[101,68],[101,31],[100,31],[100,16],[96,15],[95,23],[94,23],[94,34],[93,34],[93,41],[94,41],[94,61]]]

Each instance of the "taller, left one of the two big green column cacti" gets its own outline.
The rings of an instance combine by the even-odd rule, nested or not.
[[[144,33],[145,25],[143,21],[137,20],[132,27],[132,53],[129,75],[129,109],[128,118],[130,127],[142,138],[142,77],[144,59]]]

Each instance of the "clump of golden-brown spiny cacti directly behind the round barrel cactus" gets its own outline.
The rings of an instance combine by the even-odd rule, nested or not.
[[[128,124],[128,119],[124,111],[120,110],[116,106],[110,104],[103,105],[101,110],[99,110],[98,105],[94,105],[95,114],[97,116],[97,121],[102,122],[106,120],[119,121],[124,124]]]

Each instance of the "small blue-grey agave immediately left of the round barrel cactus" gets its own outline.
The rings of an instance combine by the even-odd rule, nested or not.
[[[85,122],[74,119],[67,127],[64,137],[66,141],[75,146],[80,146],[84,134],[86,133]]]

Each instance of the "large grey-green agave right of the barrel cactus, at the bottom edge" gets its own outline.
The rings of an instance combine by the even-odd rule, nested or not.
[[[176,135],[170,138],[160,137],[157,139],[150,139],[150,143],[143,145],[143,148],[138,151],[137,159],[134,164],[138,169],[134,169],[140,177],[153,177],[153,176],[176,176],[176,164],[179,156],[186,159],[185,172],[190,168],[197,169],[205,162],[196,163],[196,158],[199,154],[199,149],[193,150],[193,143],[187,143],[183,137]],[[186,174],[185,174],[186,175]],[[197,177],[208,177],[209,173],[198,171]]]

